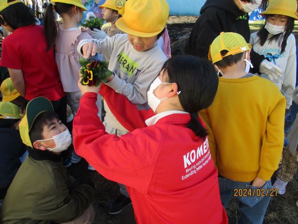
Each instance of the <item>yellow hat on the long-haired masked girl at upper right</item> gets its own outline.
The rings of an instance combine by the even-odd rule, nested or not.
[[[265,11],[260,13],[287,15],[298,20],[296,0],[269,0],[269,5]]]

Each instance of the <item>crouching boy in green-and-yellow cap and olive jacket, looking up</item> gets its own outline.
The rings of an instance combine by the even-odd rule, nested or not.
[[[67,175],[60,153],[71,144],[71,135],[51,102],[31,100],[19,130],[29,156],[7,190],[2,223],[92,223],[94,184]]]

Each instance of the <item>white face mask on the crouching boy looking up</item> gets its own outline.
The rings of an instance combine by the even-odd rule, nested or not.
[[[55,148],[47,148],[49,151],[53,152],[62,152],[64,150],[67,150],[68,147],[72,143],[72,135],[68,129],[61,132],[60,134],[54,135],[52,138],[44,139],[44,140],[37,140],[37,141],[47,141],[54,139],[54,142],[56,144]]]

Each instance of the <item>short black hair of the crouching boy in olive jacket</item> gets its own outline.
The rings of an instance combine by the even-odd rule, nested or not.
[[[54,119],[59,120],[59,116],[56,112],[52,112],[52,111],[43,112],[35,118],[31,126],[31,129],[29,131],[29,137],[32,145],[34,141],[42,140],[44,138],[44,136],[42,135],[42,132],[45,125],[48,125]]]

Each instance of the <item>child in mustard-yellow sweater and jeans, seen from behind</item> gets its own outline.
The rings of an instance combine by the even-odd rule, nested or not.
[[[223,206],[239,200],[239,223],[262,224],[284,142],[286,99],[269,80],[248,73],[251,45],[237,33],[222,32],[209,59],[221,73],[211,107],[200,112],[219,172]]]

